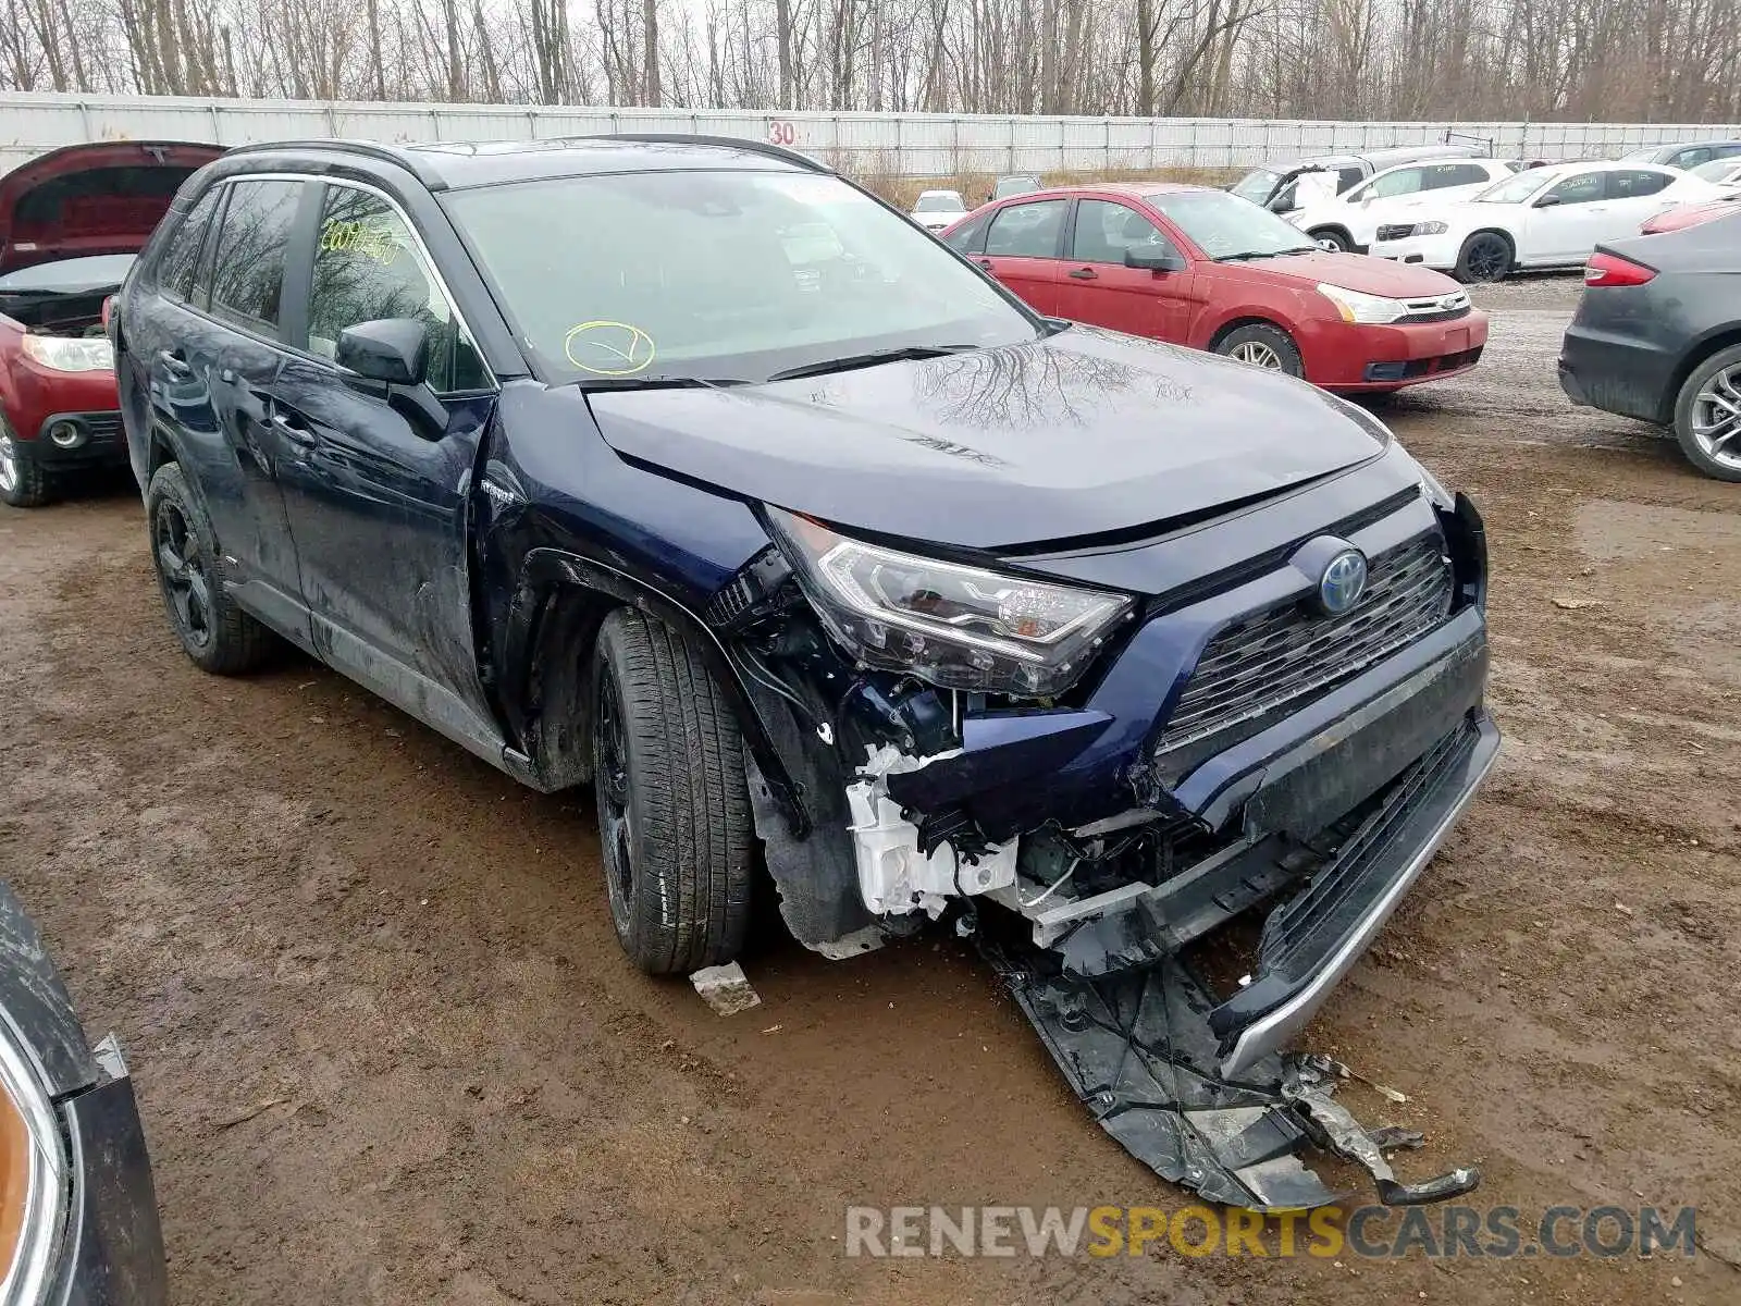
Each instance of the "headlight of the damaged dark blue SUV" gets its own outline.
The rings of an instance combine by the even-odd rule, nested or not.
[[[1060,693],[1133,604],[851,540],[780,508],[768,519],[804,596],[853,656],[945,690]]]

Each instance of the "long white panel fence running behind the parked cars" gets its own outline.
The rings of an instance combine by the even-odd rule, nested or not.
[[[843,167],[911,178],[1250,167],[1271,158],[1422,145],[1447,132],[1499,153],[1612,157],[1666,141],[1741,136],[1736,124],[1294,122],[1260,118],[1039,118],[940,113],[785,113],[534,104],[369,104],[171,96],[0,94],[0,172],[101,139],[254,141],[350,136],[487,141],[597,132],[700,132],[789,145]]]

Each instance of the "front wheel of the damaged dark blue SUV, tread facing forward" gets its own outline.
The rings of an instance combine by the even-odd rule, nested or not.
[[[724,965],[750,923],[743,740],[702,651],[618,609],[592,655],[592,787],[616,940],[649,975]]]

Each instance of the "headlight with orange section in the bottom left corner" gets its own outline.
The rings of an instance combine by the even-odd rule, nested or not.
[[[42,1083],[0,1012],[0,1301],[40,1301],[66,1219],[66,1153]]]

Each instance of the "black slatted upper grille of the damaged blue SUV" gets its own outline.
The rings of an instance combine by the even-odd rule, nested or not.
[[[1295,601],[1222,627],[1179,695],[1158,751],[1299,707],[1438,625],[1452,589],[1435,531],[1372,559],[1365,596],[1342,616]]]

